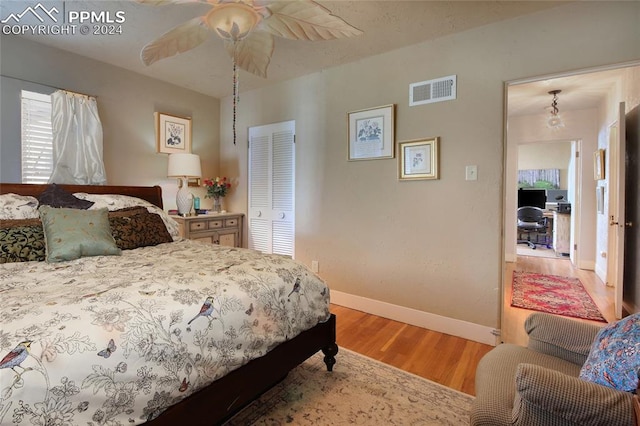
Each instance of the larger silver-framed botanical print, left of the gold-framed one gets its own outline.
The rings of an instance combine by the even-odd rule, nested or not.
[[[350,112],[349,161],[394,158],[395,105]]]

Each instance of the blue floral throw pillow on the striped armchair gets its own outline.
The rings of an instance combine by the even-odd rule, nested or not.
[[[625,392],[638,386],[640,313],[609,324],[598,333],[580,378]]]

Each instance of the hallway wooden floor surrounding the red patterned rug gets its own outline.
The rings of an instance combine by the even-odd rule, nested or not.
[[[575,268],[567,258],[542,258],[518,256],[517,262],[505,264],[505,291],[503,299],[502,341],[519,345],[527,344],[524,321],[534,311],[511,306],[511,280],[513,271],[535,272],[541,274],[560,275],[580,279],[600,312],[609,322],[615,320],[613,305],[614,290],[604,285],[593,271]],[[601,322],[576,319],[576,321],[603,325]]]

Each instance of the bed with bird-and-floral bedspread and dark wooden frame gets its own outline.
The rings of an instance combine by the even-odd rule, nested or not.
[[[37,198],[50,188],[1,184],[0,194]],[[99,220],[106,207],[111,229],[124,221],[138,238],[132,224],[160,216],[171,234],[160,187],[56,190],[94,203],[86,211]],[[304,265],[175,234],[54,262],[61,211],[40,210],[51,262],[0,264],[0,424],[223,424],[320,350],[332,370],[329,289]],[[76,214],[82,223],[84,213],[63,216]]]

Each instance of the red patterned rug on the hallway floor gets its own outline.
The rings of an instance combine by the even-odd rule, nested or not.
[[[511,306],[607,322],[577,278],[514,271]]]

